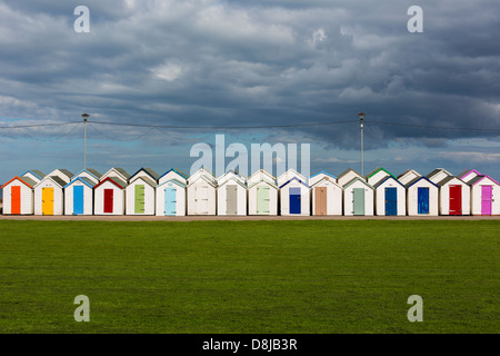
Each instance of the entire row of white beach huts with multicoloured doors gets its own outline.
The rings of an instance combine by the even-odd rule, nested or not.
[[[248,178],[232,170],[217,178],[203,168],[190,177],[150,168],[28,170],[2,189],[3,215],[500,215],[499,182],[474,169],[397,177],[383,168],[366,177],[348,169],[309,178],[293,169],[278,178],[263,169]]]

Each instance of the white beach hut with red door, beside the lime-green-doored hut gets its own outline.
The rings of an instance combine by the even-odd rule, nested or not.
[[[124,215],[127,182],[107,177],[93,187],[94,215]]]

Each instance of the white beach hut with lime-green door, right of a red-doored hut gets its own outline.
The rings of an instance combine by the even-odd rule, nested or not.
[[[130,178],[126,188],[127,215],[154,215],[156,181],[143,176]]]

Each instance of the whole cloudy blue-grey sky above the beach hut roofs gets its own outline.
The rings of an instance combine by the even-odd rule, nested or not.
[[[189,174],[193,145],[224,135],[249,152],[309,144],[311,174],[500,180],[498,13],[497,0],[1,0],[0,182],[82,170],[83,112],[101,174]]]

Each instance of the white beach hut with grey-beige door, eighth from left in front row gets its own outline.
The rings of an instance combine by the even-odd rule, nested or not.
[[[247,181],[233,170],[217,179],[217,215],[247,215]]]

